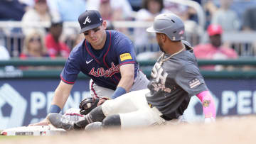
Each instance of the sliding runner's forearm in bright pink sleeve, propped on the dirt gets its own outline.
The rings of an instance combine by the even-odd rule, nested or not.
[[[196,94],[198,99],[201,100],[203,104],[203,113],[205,118],[215,118],[216,111],[215,111],[215,104],[213,100],[213,96],[211,96],[209,91],[204,91],[199,94]]]

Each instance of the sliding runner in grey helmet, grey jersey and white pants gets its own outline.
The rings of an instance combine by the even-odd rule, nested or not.
[[[181,18],[173,13],[160,14],[154,18],[154,26],[147,31],[156,33],[156,40],[163,52],[151,71],[148,89],[107,100],[75,122],[66,121],[57,113],[50,113],[50,123],[70,131],[177,122],[194,95],[202,101],[205,121],[215,121],[213,97],[199,72],[193,48],[181,40],[184,33]]]

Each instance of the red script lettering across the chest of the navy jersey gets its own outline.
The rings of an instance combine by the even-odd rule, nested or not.
[[[95,77],[112,77],[112,75],[117,72],[119,72],[119,65],[115,66],[112,62],[110,69],[104,70],[103,67],[100,67],[95,70],[95,67],[93,67],[92,70],[90,70],[89,74]]]

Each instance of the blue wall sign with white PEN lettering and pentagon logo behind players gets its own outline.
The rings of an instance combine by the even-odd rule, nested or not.
[[[28,126],[46,117],[60,79],[0,80],[0,129]],[[206,79],[217,116],[256,113],[256,79]],[[78,108],[89,97],[89,79],[75,82],[63,111]],[[184,113],[187,121],[203,120],[201,101],[193,96]]]

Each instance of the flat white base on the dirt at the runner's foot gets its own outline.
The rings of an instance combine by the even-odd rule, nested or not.
[[[62,128],[55,128],[53,126],[21,126],[1,131],[1,135],[61,135],[66,132]]]

